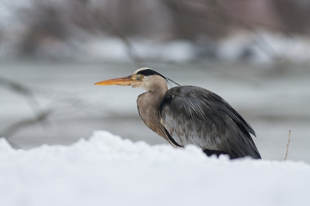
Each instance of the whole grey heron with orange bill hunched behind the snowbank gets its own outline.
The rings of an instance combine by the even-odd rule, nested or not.
[[[128,77],[95,84],[131,85],[147,90],[137,99],[139,115],[176,148],[194,144],[207,156],[227,154],[230,159],[261,159],[251,136],[256,136],[254,129],[224,99],[198,86],[168,89],[168,80],[150,68],[141,68]]]

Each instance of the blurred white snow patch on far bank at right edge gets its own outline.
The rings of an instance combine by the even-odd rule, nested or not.
[[[275,60],[290,63],[307,63],[310,57],[310,39],[306,36],[287,36],[264,30],[256,33],[239,32],[218,43],[219,58],[236,61],[248,52],[248,61],[270,64]]]

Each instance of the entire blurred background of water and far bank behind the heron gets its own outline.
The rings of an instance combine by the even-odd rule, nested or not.
[[[308,0],[1,0],[0,136],[166,144],[138,115],[143,90],[94,85],[150,67],[228,101],[263,159],[284,159],[291,130],[287,159],[310,163],[309,19]]]

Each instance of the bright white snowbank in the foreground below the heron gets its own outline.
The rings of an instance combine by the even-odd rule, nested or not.
[[[0,138],[0,162],[0,205],[310,204],[306,163],[217,159],[107,131],[30,150]]]

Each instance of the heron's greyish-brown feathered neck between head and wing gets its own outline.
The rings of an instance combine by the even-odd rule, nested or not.
[[[159,119],[159,104],[168,90],[166,82],[149,86],[137,99],[138,111],[144,123],[158,135],[168,139]]]

